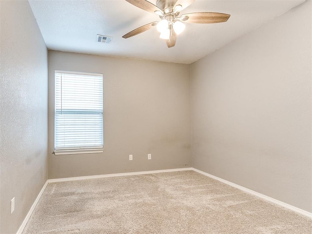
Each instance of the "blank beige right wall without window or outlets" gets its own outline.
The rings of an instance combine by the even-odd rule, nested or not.
[[[193,167],[312,212],[311,0],[192,64]]]

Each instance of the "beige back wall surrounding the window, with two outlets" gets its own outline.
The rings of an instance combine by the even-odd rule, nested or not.
[[[49,178],[191,167],[190,65],[58,51],[48,57]],[[102,154],[52,154],[55,70],[103,74]]]

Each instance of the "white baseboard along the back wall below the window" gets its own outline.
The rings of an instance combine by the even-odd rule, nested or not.
[[[188,168],[176,168],[176,169],[157,170],[157,171],[116,173],[116,174],[97,175],[97,176],[78,176],[78,177],[68,177],[68,178],[59,178],[59,179],[48,179],[48,182],[55,183],[55,182],[83,180],[83,179],[98,179],[98,178],[107,178],[107,177],[116,177],[116,176],[137,176],[137,175],[145,175],[145,174],[180,172],[180,171],[192,171],[192,168],[188,167]]]

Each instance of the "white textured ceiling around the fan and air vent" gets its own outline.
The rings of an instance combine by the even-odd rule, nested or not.
[[[156,0],[150,0],[156,4]],[[123,39],[144,24],[159,20],[125,0],[29,0],[48,49],[176,63],[192,63],[305,0],[196,0],[181,14],[220,12],[227,22],[186,23],[176,46],[168,48],[156,27]],[[96,35],[113,36],[100,43]]]

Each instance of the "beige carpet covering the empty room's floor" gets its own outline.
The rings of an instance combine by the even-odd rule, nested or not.
[[[194,171],[49,183],[23,234],[312,234],[312,219]]]

